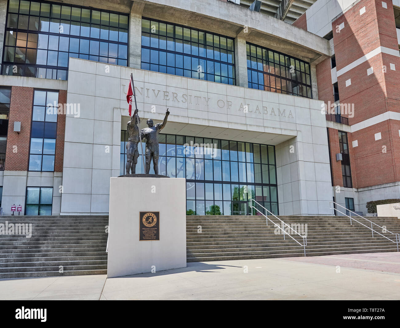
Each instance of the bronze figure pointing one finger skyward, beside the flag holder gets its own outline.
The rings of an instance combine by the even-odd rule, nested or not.
[[[154,174],[158,174],[158,134],[162,129],[164,129],[165,125],[167,124],[167,118],[170,115],[170,112],[167,111],[165,113],[164,121],[162,123],[158,123],[154,125],[152,119],[148,119],[146,121],[148,127],[144,128],[140,131],[140,135],[143,138],[146,138],[146,171],[145,173],[148,174],[150,172],[150,162],[153,159],[154,165]],[[154,126],[153,126],[154,125]],[[137,148],[137,147],[136,147]]]

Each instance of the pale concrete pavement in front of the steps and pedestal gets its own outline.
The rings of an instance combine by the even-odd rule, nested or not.
[[[400,254],[188,263],[187,268],[0,280],[0,300],[399,300]]]

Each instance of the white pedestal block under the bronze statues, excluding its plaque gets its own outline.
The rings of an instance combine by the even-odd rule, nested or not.
[[[139,212],[160,212],[159,240],[139,240]],[[108,278],[186,267],[186,180],[110,178]]]

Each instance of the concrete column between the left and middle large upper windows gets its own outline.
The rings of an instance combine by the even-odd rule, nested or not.
[[[134,2],[130,10],[129,24],[129,67],[141,68],[142,12],[144,3]]]

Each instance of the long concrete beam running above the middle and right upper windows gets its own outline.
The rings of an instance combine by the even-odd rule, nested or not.
[[[329,56],[329,42],[259,12],[229,2],[216,0],[136,0],[145,4],[143,16],[176,24],[205,29],[236,38],[239,29],[248,27],[252,33],[246,41],[273,48],[298,58],[314,60]]]

